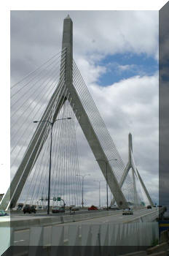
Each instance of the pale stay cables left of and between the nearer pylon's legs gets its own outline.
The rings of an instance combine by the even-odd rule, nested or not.
[[[64,80],[66,49],[46,61],[11,88],[11,178],[15,175],[28,145],[36,133],[34,120],[41,120],[52,94],[58,87],[59,94],[52,102],[47,120],[51,121],[60,97],[68,99]],[[61,61],[61,65],[60,65]],[[70,117],[71,119],[66,119]],[[60,119],[60,120],[58,120]],[[50,199],[61,197],[66,205],[80,205],[81,182],[76,145],[74,110],[68,100],[60,104],[52,129],[52,160]],[[37,157],[31,165],[18,202],[24,204],[47,204],[50,166],[50,122],[44,127]],[[34,150],[34,148],[33,148]]]

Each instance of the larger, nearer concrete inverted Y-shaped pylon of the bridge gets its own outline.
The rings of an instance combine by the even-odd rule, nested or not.
[[[73,23],[71,18],[68,16],[63,23],[63,41],[62,50],[66,49],[66,57],[61,59],[62,80],[58,83],[58,87],[55,89],[52,97],[44,110],[41,120],[47,120],[50,117],[50,121],[55,122],[58,116],[58,112],[66,100],[69,101],[71,108],[74,110],[74,114],[79,121],[79,125],[84,132],[84,136],[89,143],[91,150],[95,156],[95,159],[102,159],[98,161],[98,165],[101,168],[103,176],[106,178],[111,193],[117,202],[119,208],[127,207],[127,201],[125,195],[123,195],[122,189],[119,186],[117,177],[115,176],[114,170],[109,164],[109,158],[105,154],[101,141],[91,124],[90,118],[87,115],[87,111],[79,98],[79,95],[74,87],[73,83]],[[65,92],[64,92],[65,91]],[[57,102],[57,104],[55,103]],[[50,114],[52,112],[52,115]],[[80,118],[79,118],[80,116]],[[35,165],[36,159],[44,146],[46,138],[44,139],[44,133],[48,135],[50,129],[47,129],[47,123],[41,122],[36,128],[36,132],[25,151],[25,155],[20,163],[20,166],[15,173],[14,178],[10,184],[7,194],[1,201],[1,208],[14,208],[17,200],[20,197],[20,193],[24,187],[25,181],[28,178],[29,173]],[[107,163],[107,166],[105,165]]]

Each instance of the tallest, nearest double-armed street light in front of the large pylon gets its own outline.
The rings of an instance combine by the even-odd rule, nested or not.
[[[59,119],[56,119],[55,121],[60,121],[60,120],[65,120],[65,119],[71,119],[71,117],[59,118]],[[48,181],[47,214],[50,214],[50,177],[51,177],[51,166],[52,166],[52,127],[53,127],[53,124],[55,124],[55,121],[53,121],[53,122],[48,121],[48,120],[34,121],[34,123],[47,122],[51,125],[51,131],[50,131],[50,170],[49,170],[49,181]]]

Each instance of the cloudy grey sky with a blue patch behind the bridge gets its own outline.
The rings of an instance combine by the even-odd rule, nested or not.
[[[125,164],[132,133],[135,163],[157,202],[158,12],[12,11],[11,84],[60,51],[68,14],[74,23],[74,60]],[[80,172],[90,170],[85,203],[97,204],[98,184],[91,181],[103,175],[82,134],[78,148]],[[101,195],[105,203],[105,184]]]

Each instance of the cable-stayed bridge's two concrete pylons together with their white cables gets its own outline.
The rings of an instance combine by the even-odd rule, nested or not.
[[[111,190],[111,204],[117,203],[119,208],[153,206],[135,166],[131,135],[125,166],[76,66],[73,23],[68,16],[60,53],[11,88],[12,181],[0,208],[15,208],[18,202],[36,205],[38,200],[57,197],[66,206],[81,205],[78,127]]]

